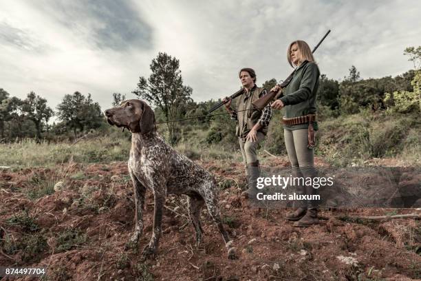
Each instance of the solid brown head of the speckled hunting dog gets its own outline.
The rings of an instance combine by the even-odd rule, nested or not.
[[[155,114],[147,103],[138,99],[122,101],[120,106],[105,110],[110,125],[125,127],[132,133],[155,132]]]

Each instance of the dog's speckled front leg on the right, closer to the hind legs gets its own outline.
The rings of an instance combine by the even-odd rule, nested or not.
[[[153,231],[152,238],[147,247],[144,248],[142,255],[144,257],[151,257],[155,255],[158,248],[158,242],[162,235],[162,211],[165,205],[166,192],[164,188],[159,187],[154,189],[153,200],[155,202],[155,208],[153,210]]]

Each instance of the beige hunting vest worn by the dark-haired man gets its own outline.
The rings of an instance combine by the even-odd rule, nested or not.
[[[259,121],[259,118],[261,116],[261,110],[251,110],[252,109],[252,103],[254,101],[257,101],[259,98],[259,94],[263,92],[263,88],[261,87],[255,87],[252,92],[246,94],[241,94],[237,100],[237,128],[235,129],[235,134],[240,137],[246,136],[248,132],[250,132],[250,129],[254,125],[256,125],[257,121]],[[244,110],[244,111],[242,111]],[[259,132],[262,132],[266,135],[268,132],[268,127],[264,126],[259,129]]]

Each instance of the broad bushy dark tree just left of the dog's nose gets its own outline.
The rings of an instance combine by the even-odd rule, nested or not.
[[[63,121],[68,129],[73,130],[75,138],[77,129],[79,132],[95,129],[103,122],[100,105],[92,101],[91,94],[88,94],[87,98],[80,92],[66,94],[57,110],[58,119]]]

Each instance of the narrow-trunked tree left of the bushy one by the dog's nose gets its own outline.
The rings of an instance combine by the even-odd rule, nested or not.
[[[47,100],[30,92],[22,103],[22,112],[26,118],[34,122],[36,138],[41,139],[43,127],[47,126],[48,121],[54,115],[51,107],[47,106]]]

